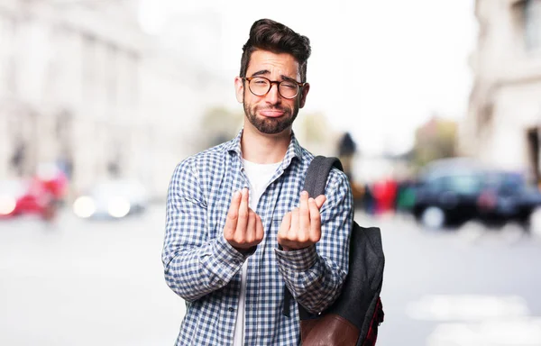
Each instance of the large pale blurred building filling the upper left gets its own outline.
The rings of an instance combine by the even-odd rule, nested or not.
[[[136,178],[164,196],[220,94],[167,42],[183,47],[142,32],[136,0],[0,0],[0,178],[54,161],[73,192]]]

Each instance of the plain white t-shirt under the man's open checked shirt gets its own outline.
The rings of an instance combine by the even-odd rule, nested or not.
[[[255,212],[261,195],[271,182],[271,178],[280,166],[281,162],[271,164],[253,163],[243,159],[244,172],[250,181],[250,199],[248,204]],[[246,275],[248,272],[248,260],[244,261],[241,277],[241,299],[237,309],[234,327],[234,346],[242,346],[244,341],[244,304],[246,302]]]

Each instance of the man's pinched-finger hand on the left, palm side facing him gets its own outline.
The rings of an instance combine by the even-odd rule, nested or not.
[[[225,240],[240,252],[248,252],[263,240],[261,217],[248,206],[248,196],[246,187],[234,193],[225,220]]]

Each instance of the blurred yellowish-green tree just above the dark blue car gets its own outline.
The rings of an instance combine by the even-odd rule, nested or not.
[[[417,128],[412,152],[413,163],[422,167],[435,159],[456,156],[457,124],[434,115]]]

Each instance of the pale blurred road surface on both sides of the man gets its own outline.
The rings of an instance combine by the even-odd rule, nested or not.
[[[379,346],[541,345],[539,238],[357,220],[383,234]],[[174,344],[184,302],[162,276],[163,224],[161,205],[115,222],[0,222],[0,345]]]

